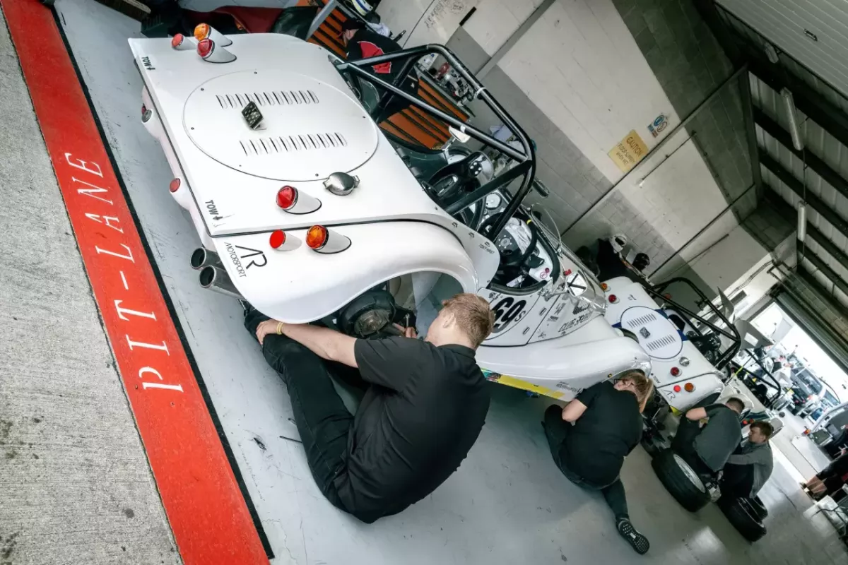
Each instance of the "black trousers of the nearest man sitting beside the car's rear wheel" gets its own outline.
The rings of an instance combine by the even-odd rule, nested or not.
[[[250,309],[245,314],[244,327],[255,337],[257,326],[266,319],[264,314]],[[356,509],[345,507],[336,488],[339,477],[348,472],[348,435],[354,417],[333,387],[331,374],[351,385],[364,385],[359,371],[327,362],[285,335],[265,336],[262,353],[286,383],[294,424],[315,483],[333,506],[356,516]]]

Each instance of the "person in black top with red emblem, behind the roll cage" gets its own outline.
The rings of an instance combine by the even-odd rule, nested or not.
[[[346,19],[342,24],[342,41],[349,60],[377,57],[401,49],[398,42],[368,29],[365,22],[354,18]],[[371,72],[382,80],[394,83],[402,66],[403,62],[401,61],[389,61],[388,63],[374,65],[371,67]],[[415,75],[415,71],[410,71],[410,75],[405,76],[398,87],[407,94],[416,96],[418,94],[418,77]],[[388,94],[379,86],[377,86],[377,92],[381,98],[384,94]],[[377,124],[410,107],[410,102],[398,96],[389,96],[384,102],[385,105],[382,108],[377,108],[377,114],[371,116]]]

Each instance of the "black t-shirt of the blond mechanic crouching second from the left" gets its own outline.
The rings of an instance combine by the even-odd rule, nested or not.
[[[609,485],[642,437],[639,401],[633,392],[617,391],[609,380],[590,386],[576,400],[586,411],[566,435],[563,460],[594,485]]]

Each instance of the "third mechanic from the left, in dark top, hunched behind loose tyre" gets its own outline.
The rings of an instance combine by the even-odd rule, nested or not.
[[[699,475],[714,475],[728,463],[728,457],[739,446],[739,414],[745,403],[730,398],[725,404],[692,408],[681,418],[678,433],[672,440],[676,451]],[[706,424],[700,421],[707,418]]]

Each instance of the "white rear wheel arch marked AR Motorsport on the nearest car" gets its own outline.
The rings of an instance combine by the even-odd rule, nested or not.
[[[215,238],[215,251],[242,295],[255,296],[251,303],[259,312],[292,324],[323,318],[378,282],[403,274],[449,274],[463,291],[477,291],[471,259],[455,237],[438,226],[391,222],[333,230],[352,241],[344,252],[312,251],[303,243],[306,230],[287,232],[301,241],[291,251],[271,249],[266,234]],[[308,289],[310,297],[288,289]]]

